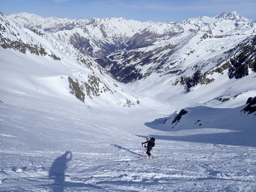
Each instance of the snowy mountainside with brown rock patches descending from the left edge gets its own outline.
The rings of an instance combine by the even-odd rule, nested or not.
[[[81,54],[51,33],[21,28],[3,14],[0,22],[1,47],[4,48],[1,51],[2,72],[12,72],[10,65],[18,73],[22,72],[21,77],[12,72],[12,83],[9,77],[1,76],[2,83],[10,89],[19,87],[21,94],[31,94],[33,97],[45,95],[45,92],[55,94],[56,97],[72,93],[88,106],[90,102],[128,107],[139,103],[135,97],[125,93],[122,85],[113,80],[92,58]],[[15,83],[17,80],[20,84]],[[56,85],[52,87],[52,84]],[[6,89],[2,88],[2,92],[6,92]]]

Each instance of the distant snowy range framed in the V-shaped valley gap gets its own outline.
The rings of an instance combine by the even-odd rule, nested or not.
[[[122,47],[135,33],[153,22],[139,22],[123,18],[60,19],[43,18],[29,13],[10,15],[13,20],[28,29],[42,29],[61,36],[80,52],[102,57]]]

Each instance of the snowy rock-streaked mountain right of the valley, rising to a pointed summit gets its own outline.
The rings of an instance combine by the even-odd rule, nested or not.
[[[116,79],[136,81],[131,90],[141,95],[172,105],[186,93],[197,104],[220,102],[225,108],[249,92],[255,97],[255,24],[236,12],[152,24],[134,35],[127,49],[96,61]]]

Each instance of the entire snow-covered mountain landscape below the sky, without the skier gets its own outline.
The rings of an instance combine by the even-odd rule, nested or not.
[[[1,13],[0,191],[255,191],[255,32]]]

